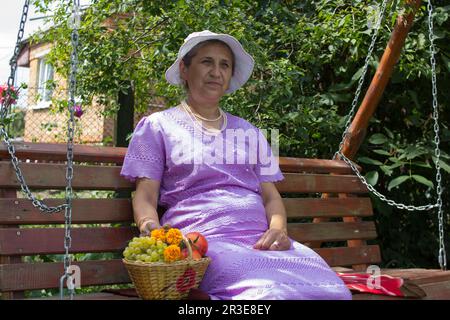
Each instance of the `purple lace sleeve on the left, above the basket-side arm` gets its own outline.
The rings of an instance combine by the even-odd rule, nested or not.
[[[161,181],[165,165],[163,133],[153,115],[142,118],[134,129],[120,175]]]

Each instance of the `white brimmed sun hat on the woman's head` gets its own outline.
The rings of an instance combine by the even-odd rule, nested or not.
[[[214,33],[209,30],[203,30],[200,32],[193,32],[184,39],[184,43],[178,51],[177,60],[175,60],[166,71],[166,79],[170,84],[183,84],[183,80],[180,77],[180,61],[197,44],[211,39],[225,42],[234,54],[234,73],[230,80],[230,86],[225,93],[234,92],[247,82],[252,74],[253,66],[255,64],[253,57],[244,50],[236,38],[224,33]]]

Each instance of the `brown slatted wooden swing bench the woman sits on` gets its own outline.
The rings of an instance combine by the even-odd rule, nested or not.
[[[24,143],[16,145],[16,152],[30,189],[49,191],[46,203],[50,206],[62,204],[64,199],[51,197],[54,190],[64,191],[66,186],[66,145]],[[73,188],[77,196],[73,200],[70,252],[92,254],[92,260],[73,261],[81,269],[83,288],[130,283],[120,258],[138,232],[131,204],[135,186],[119,175],[125,153],[126,148],[74,148]],[[28,290],[59,287],[62,262],[38,257],[64,253],[64,213],[42,213],[23,198],[3,144],[0,160],[0,292],[2,299],[21,299]],[[345,163],[281,157],[280,167],[286,179],[276,185],[284,196],[290,237],[312,246],[330,266],[340,268],[336,270],[364,272],[368,265],[380,263],[370,198]],[[115,191],[121,198],[86,198],[78,193],[83,190]],[[322,193],[328,197],[321,197]],[[313,218],[331,220],[313,223]],[[111,254],[108,259],[95,259],[97,253]],[[410,279],[426,292],[427,299],[450,298],[450,272],[410,269],[383,273]],[[354,299],[388,298],[354,295]],[[76,299],[131,298],[100,292],[76,295]]]

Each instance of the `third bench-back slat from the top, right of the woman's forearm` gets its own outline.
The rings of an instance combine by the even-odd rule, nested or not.
[[[370,217],[370,198],[283,198],[288,218]]]

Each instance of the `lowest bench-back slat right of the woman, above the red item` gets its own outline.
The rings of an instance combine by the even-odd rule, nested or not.
[[[380,247],[336,247],[314,249],[330,267],[352,266],[355,264],[375,264],[381,262]]]

